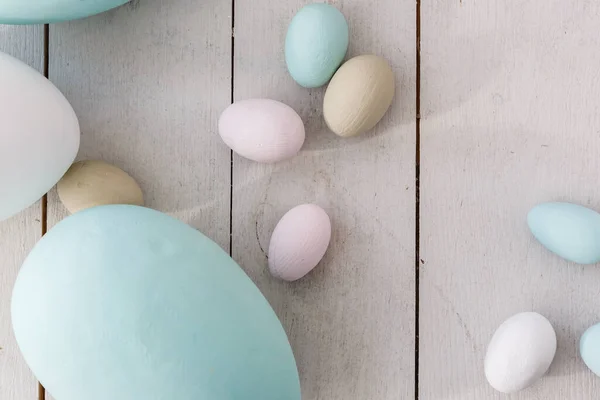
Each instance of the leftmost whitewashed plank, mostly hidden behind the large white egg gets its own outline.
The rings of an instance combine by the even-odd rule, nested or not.
[[[44,65],[43,27],[0,25],[0,51],[11,54],[41,72]],[[37,381],[25,364],[14,339],[10,297],[19,268],[41,233],[39,202],[0,222],[0,399],[3,400],[37,398]]]

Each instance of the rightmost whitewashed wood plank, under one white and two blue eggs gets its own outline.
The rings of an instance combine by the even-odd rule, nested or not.
[[[596,399],[579,358],[598,319],[600,269],[529,233],[535,204],[600,210],[600,4],[423,2],[421,400]],[[549,375],[501,396],[483,373],[497,326],[521,311],[554,324]]]

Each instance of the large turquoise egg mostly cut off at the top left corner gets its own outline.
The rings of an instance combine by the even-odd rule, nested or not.
[[[47,24],[88,17],[129,0],[0,0],[0,24]]]

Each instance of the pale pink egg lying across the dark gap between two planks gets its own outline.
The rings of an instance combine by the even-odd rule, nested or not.
[[[304,124],[289,106],[275,100],[233,103],[219,119],[219,134],[242,157],[274,163],[296,155],[304,144]]]

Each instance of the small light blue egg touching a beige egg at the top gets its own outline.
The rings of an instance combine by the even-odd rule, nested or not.
[[[314,3],[292,19],[285,38],[285,61],[290,75],[301,86],[326,84],[348,50],[348,23],[335,7]]]

